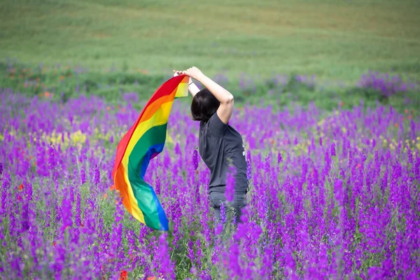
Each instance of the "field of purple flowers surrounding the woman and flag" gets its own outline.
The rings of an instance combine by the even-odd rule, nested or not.
[[[420,277],[418,118],[379,104],[236,108],[251,191],[221,246],[199,124],[181,102],[146,172],[169,218],[162,233],[127,213],[111,180],[135,97],[0,99],[1,279]]]

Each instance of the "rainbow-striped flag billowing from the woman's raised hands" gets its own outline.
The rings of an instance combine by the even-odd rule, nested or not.
[[[188,95],[188,76],[167,80],[152,95],[136,123],[117,146],[113,181],[127,211],[155,230],[168,230],[168,219],[144,174],[152,158],[162,152],[172,103]]]

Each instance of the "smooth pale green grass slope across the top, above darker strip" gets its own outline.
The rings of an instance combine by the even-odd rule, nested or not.
[[[307,73],[353,81],[367,69],[420,78],[417,0],[3,0],[0,59],[113,64],[162,74]]]

